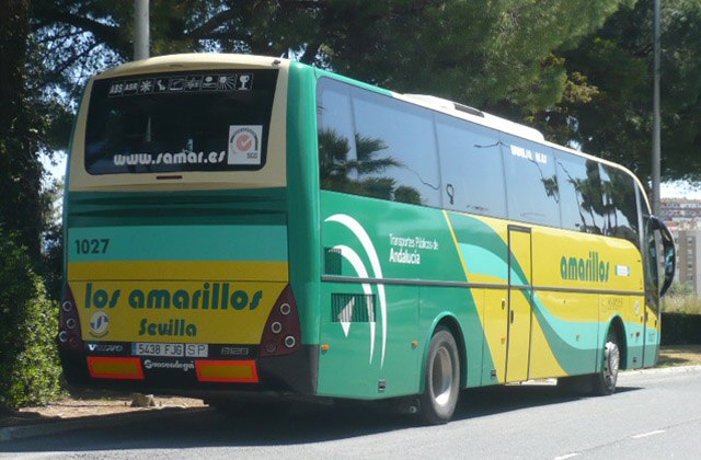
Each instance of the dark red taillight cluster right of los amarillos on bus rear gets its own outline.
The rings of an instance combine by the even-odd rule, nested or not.
[[[261,356],[280,356],[301,346],[299,314],[292,288],[287,286],[278,297],[265,323],[261,338]]]

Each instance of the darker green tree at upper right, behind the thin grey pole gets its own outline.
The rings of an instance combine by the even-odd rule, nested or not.
[[[663,179],[701,179],[701,3],[663,2]],[[653,9],[639,1],[562,54],[562,102],[532,118],[549,137],[651,174]]]

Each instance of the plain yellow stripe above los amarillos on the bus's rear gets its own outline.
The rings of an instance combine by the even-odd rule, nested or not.
[[[112,261],[70,262],[69,281],[92,280],[287,281],[287,262]]]

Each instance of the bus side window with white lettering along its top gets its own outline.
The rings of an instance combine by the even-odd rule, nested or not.
[[[560,226],[560,188],[554,152],[545,146],[503,136],[508,215],[547,226]]]

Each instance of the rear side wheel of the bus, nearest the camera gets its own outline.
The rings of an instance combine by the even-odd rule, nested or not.
[[[448,330],[440,327],[432,337],[424,373],[421,416],[429,425],[447,423],[460,393],[460,355]]]

